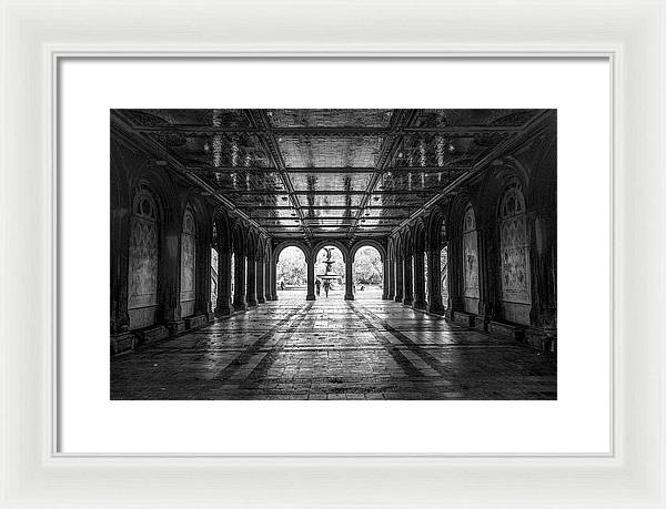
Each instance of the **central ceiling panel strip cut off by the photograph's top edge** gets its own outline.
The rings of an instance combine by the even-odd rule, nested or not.
[[[392,110],[269,110],[274,128],[386,128]]]

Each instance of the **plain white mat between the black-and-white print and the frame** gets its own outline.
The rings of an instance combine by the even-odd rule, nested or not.
[[[69,60],[59,99],[60,451],[609,452],[607,61]],[[111,108],[556,108],[558,400],[111,401]]]

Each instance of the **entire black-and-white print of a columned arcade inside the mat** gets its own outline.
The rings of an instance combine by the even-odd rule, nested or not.
[[[113,400],[557,399],[557,110],[110,110]]]

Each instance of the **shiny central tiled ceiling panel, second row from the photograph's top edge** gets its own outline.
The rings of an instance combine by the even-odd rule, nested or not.
[[[382,136],[281,136],[278,145],[286,167],[375,166]]]

